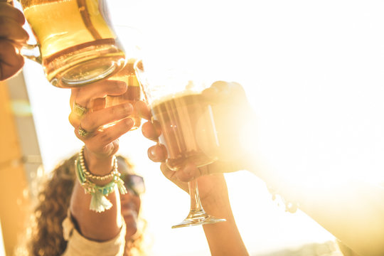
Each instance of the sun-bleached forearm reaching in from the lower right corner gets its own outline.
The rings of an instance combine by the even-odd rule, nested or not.
[[[383,187],[325,174],[292,178],[271,170],[257,175],[338,240],[362,256],[384,255]]]

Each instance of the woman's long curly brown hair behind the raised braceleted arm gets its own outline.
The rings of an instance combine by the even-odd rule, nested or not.
[[[49,176],[41,181],[37,198],[37,205],[28,220],[28,228],[25,237],[16,249],[18,256],[59,256],[67,247],[67,241],[63,238],[63,220],[67,217],[70,206],[70,198],[76,181],[75,159],[78,154],[58,164]],[[133,169],[129,159],[124,159]],[[142,220],[145,228],[145,221]],[[143,230],[142,228],[142,230]],[[142,255],[143,232],[139,232],[127,241],[126,255]]]

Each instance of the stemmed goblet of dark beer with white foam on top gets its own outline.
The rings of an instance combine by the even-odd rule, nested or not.
[[[205,85],[188,79],[186,73],[160,70],[158,65],[143,68],[137,61],[135,69],[151,108],[152,122],[161,127],[159,143],[166,147],[169,169],[177,171],[188,161],[198,167],[217,159],[218,138],[210,105],[201,95]],[[197,180],[188,182],[191,208],[188,216],[172,228],[212,224],[225,221],[208,215],[198,195]]]

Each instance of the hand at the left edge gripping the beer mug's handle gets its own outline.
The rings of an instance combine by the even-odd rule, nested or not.
[[[23,29],[23,13],[9,2],[0,0],[0,80],[6,80],[18,73],[24,65],[20,54],[28,33]]]

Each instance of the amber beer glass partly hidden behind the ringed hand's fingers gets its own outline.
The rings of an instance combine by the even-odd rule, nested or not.
[[[136,59],[134,58],[127,60],[127,65],[125,65],[124,68],[119,71],[119,73],[113,75],[112,78],[109,78],[109,80],[119,80],[125,82],[127,84],[127,92],[125,92],[124,95],[107,96],[106,98],[106,107],[119,105],[124,102],[129,102],[132,104],[134,111],[129,116],[134,121],[132,130],[139,128],[140,124],[142,123],[142,118],[140,117],[140,114],[137,112],[135,107],[136,102],[142,100],[142,90],[134,70],[135,62]]]

